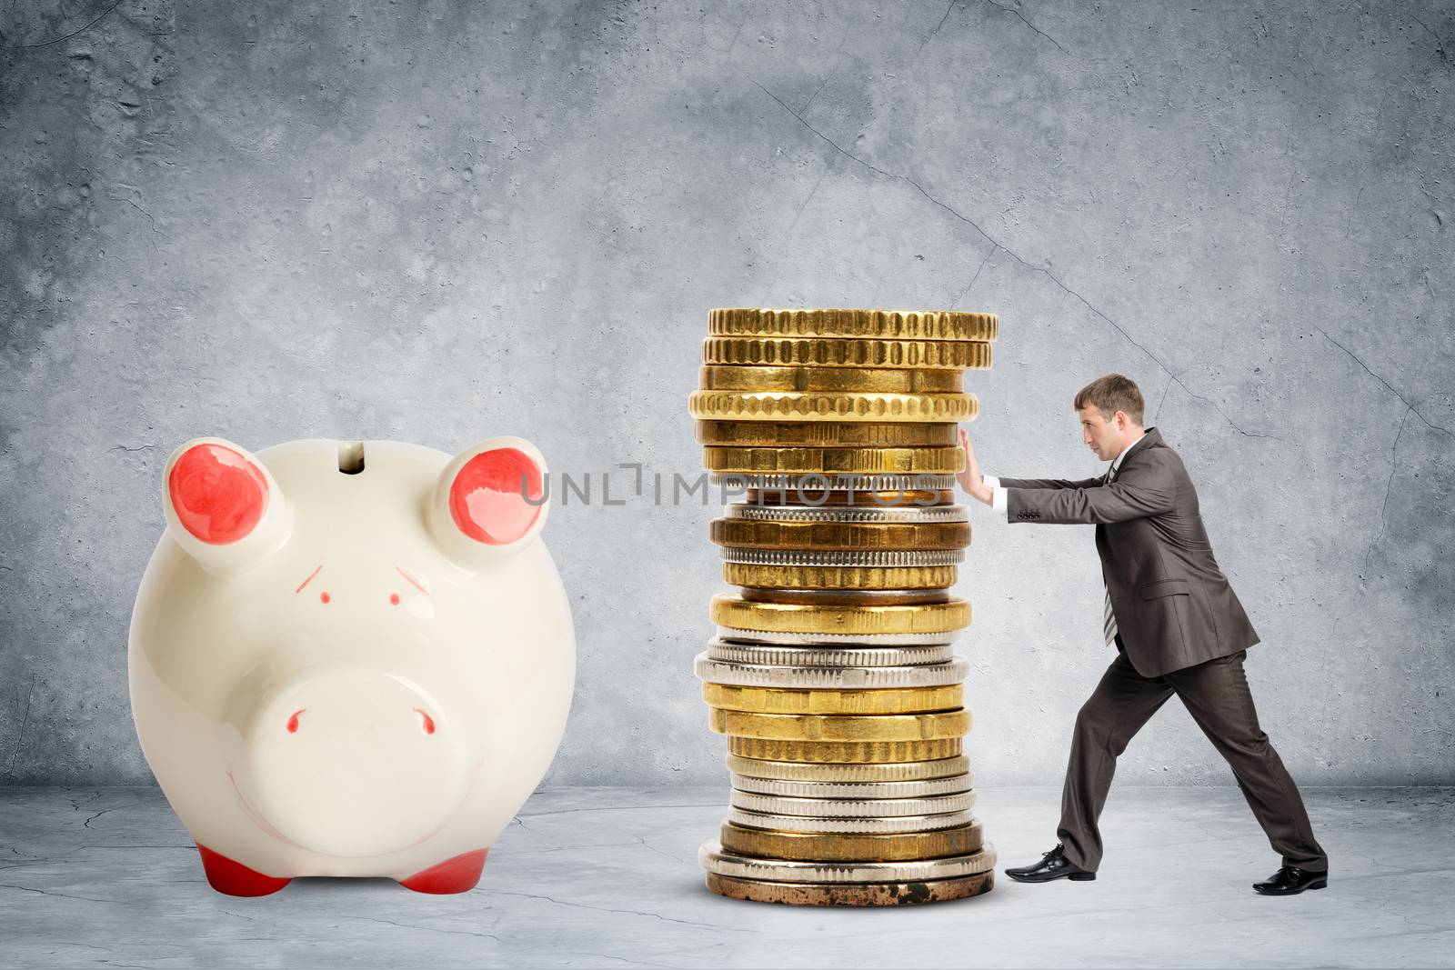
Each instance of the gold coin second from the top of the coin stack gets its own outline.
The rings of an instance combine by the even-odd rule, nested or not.
[[[991,366],[991,345],[972,340],[707,337],[703,340],[703,364],[984,371]]]

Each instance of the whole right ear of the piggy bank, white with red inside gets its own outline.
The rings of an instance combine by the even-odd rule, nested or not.
[[[546,458],[524,438],[489,438],[445,465],[429,502],[429,531],[464,567],[525,548],[550,512]]]

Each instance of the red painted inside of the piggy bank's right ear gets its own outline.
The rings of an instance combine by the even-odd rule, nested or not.
[[[486,545],[508,545],[530,532],[541,508],[541,470],[519,448],[482,451],[450,483],[455,528]]]

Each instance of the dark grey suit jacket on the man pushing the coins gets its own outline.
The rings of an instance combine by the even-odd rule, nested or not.
[[[1136,672],[1161,676],[1259,643],[1212,556],[1192,478],[1163,433],[1148,428],[1122,455],[1116,480],[1106,478],[1000,484],[1010,522],[1096,524],[1101,576]]]

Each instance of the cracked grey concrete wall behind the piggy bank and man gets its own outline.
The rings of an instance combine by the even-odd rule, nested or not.
[[[1199,486],[1305,784],[1455,781],[1455,10],[1435,1],[12,3],[0,782],[150,778],[132,596],[189,436],[695,474],[719,305],[1001,314],[988,473],[1088,476],[1120,371]],[[557,506],[556,782],[726,784],[711,508]],[[1091,526],[976,506],[982,784],[1058,784]],[[1229,782],[1170,704],[1119,778]]]

